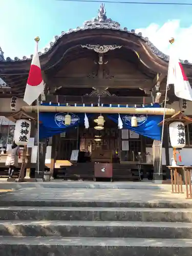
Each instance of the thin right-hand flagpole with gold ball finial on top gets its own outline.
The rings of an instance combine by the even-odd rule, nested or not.
[[[173,45],[175,39],[171,38],[169,40],[170,45]],[[168,62],[168,72],[169,74],[169,68],[170,68],[170,55],[169,55],[169,62]],[[167,75],[168,78],[168,75]],[[165,109],[166,109],[166,100],[167,100],[167,91],[168,91],[168,79],[166,82],[166,90],[165,90],[165,103],[164,103],[164,111],[163,111],[163,125],[162,125],[162,133],[161,133],[161,144],[160,144],[160,156],[159,156],[159,176],[161,174],[161,163],[162,163],[162,148],[163,148],[163,134],[164,134],[164,127],[165,127]]]

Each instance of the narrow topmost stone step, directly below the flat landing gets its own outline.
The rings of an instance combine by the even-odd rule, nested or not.
[[[29,192],[30,193],[30,192]],[[14,194],[14,192],[13,192]],[[41,207],[127,207],[127,208],[187,208],[192,209],[190,202],[127,202],[127,201],[91,201],[91,200],[4,200],[0,206],[41,206]]]

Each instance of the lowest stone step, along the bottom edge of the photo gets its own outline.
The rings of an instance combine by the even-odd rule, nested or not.
[[[191,239],[0,237],[1,256],[192,256]]]

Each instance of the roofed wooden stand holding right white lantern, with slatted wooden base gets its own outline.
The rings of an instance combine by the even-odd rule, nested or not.
[[[159,123],[162,125],[163,121]],[[177,165],[177,150],[180,150],[182,147],[185,146],[185,130],[184,127],[187,124],[192,123],[192,119],[183,115],[181,111],[176,113],[175,115],[171,116],[170,118],[166,118],[164,120],[164,124],[169,126],[169,135],[173,135],[172,138],[170,137],[170,142],[173,146],[173,158],[172,158],[172,165],[168,165],[168,169],[170,169],[170,178],[172,184],[172,193],[183,193],[183,181],[185,180],[186,185],[186,193],[187,198],[192,199],[192,189],[191,189],[191,166],[183,166]],[[180,135],[177,135],[179,127],[182,128],[182,144],[180,141]],[[177,131],[176,131],[177,129]],[[175,136],[174,136],[175,133]],[[177,137],[178,136],[178,137]],[[161,159],[160,159],[161,161]],[[188,189],[189,185],[189,189]],[[188,193],[188,190],[190,193]]]

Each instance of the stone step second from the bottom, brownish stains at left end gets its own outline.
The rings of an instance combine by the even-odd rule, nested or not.
[[[2,220],[0,236],[192,239],[192,223]]]

